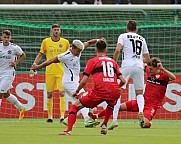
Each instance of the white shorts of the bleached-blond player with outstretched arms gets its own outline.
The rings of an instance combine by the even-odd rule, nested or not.
[[[65,91],[65,95],[69,96],[73,102],[77,101],[77,98],[72,97],[73,93],[77,90],[79,83],[77,82],[69,82],[69,83],[62,83],[63,89]],[[85,92],[85,90],[82,88],[79,93]]]

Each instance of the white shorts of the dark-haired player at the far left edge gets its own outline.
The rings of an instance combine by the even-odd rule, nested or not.
[[[11,89],[14,76],[0,76],[0,93],[7,93]]]

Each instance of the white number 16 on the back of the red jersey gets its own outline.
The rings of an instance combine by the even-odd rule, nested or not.
[[[114,77],[114,69],[113,69],[113,63],[112,62],[105,62],[102,61],[103,65],[103,74],[105,77]]]

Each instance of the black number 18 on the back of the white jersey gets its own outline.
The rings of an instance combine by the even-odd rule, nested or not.
[[[130,41],[132,42],[133,53],[135,53],[136,55],[140,55],[142,50],[142,41],[134,39],[130,39]]]

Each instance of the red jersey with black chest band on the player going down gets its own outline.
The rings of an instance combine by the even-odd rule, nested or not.
[[[165,97],[169,77],[163,71],[160,71],[156,75],[151,75],[148,71],[148,68],[146,68],[146,73],[148,77],[144,93],[145,106],[162,106],[162,101]]]

